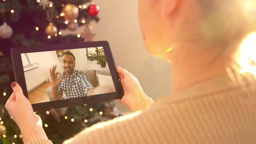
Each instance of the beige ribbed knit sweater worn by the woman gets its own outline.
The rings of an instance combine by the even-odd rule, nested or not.
[[[255,80],[237,84],[223,76],[151,104],[148,99],[137,112],[95,124],[64,144],[256,144]]]

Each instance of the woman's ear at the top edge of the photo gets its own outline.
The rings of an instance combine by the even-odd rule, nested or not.
[[[166,17],[169,16],[176,8],[178,4],[178,0],[161,0],[161,15]]]

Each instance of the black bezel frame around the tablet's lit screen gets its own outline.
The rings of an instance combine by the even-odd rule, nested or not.
[[[119,75],[116,71],[116,65],[115,65],[114,57],[112,55],[109,43],[107,41],[98,41],[98,42],[86,42],[86,43],[66,43],[66,44],[19,47],[19,48],[11,49],[11,57],[13,62],[13,72],[14,72],[15,80],[17,83],[20,84],[21,88],[23,89],[23,94],[26,96],[26,98],[28,98],[25,75],[24,75],[24,70],[23,70],[23,65],[21,60],[21,53],[45,52],[45,51],[55,51],[55,50],[64,50],[64,49],[82,49],[82,48],[99,47],[99,46],[102,46],[104,49],[106,59],[108,62],[108,67],[111,72],[111,76],[115,85],[116,92],[32,104],[33,110],[43,111],[43,110],[48,110],[52,108],[63,108],[63,107],[68,107],[72,105],[82,105],[82,104],[95,103],[98,101],[107,101],[107,100],[122,98],[122,96],[124,95],[124,91],[120,82]]]

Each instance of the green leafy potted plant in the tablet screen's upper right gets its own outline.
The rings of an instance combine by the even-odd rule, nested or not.
[[[102,68],[106,67],[107,59],[103,48],[95,47],[95,52],[88,52],[86,56],[89,56],[90,61],[97,61],[97,64],[101,65]]]

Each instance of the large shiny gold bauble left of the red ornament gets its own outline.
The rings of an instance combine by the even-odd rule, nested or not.
[[[67,4],[62,9],[66,20],[75,20],[79,15],[79,9],[74,4]]]

